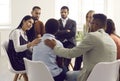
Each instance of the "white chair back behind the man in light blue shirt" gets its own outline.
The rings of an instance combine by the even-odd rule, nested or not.
[[[29,81],[54,81],[47,66],[41,61],[31,61],[24,58]]]

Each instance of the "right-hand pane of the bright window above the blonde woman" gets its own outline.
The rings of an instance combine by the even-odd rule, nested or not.
[[[94,10],[95,13],[105,13],[105,0],[82,0],[82,24],[85,23],[86,13]]]

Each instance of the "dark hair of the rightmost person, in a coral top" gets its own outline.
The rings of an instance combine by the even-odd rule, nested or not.
[[[115,24],[112,19],[107,19],[106,33],[109,35],[115,33]]]

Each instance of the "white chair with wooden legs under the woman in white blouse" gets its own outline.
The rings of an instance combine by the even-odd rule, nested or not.
[[[5,41],[3,44],[2,44],[2,47],[3,47],[3,50],[4,52],[6,53],[7,57],[8,57],[8,68],[9,70],[12,72],[12,73],[15,73],[15,76],[14,76],[14,80],[13,81],[17,81],[17,79],[21,78],[21,76],[25,73],[25,70],[24,71],[16,71],[13,69],[12,65],[11,65],[11,62],[10,62],[10,59],[9,59],[9,56],[8,56],[8,53],[7,53],[7,50],[8,50],[8,41]],[[19,77],[20,75],[20,77]],[[24,77],[24,75],[23,75]],[[25,80],[25,77],[24,77],[24,80]],[[25,80],[26,81],[26,80]]]

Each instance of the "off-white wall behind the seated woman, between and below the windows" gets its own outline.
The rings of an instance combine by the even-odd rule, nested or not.
[[[45,23],[47,19],[55,17],[54,5],[54,0],[11,0],[12,23],[9,29],[0,29],[0,44],[2,44],[3,41],[8,40],[10,31],[19,25],[21,19],[25,15],[31,15],[31,10],[33,6],[41,7],[42,12],[40,20]],[[3,50],[1,47],[0,49],[0,55],[3,55]]]

